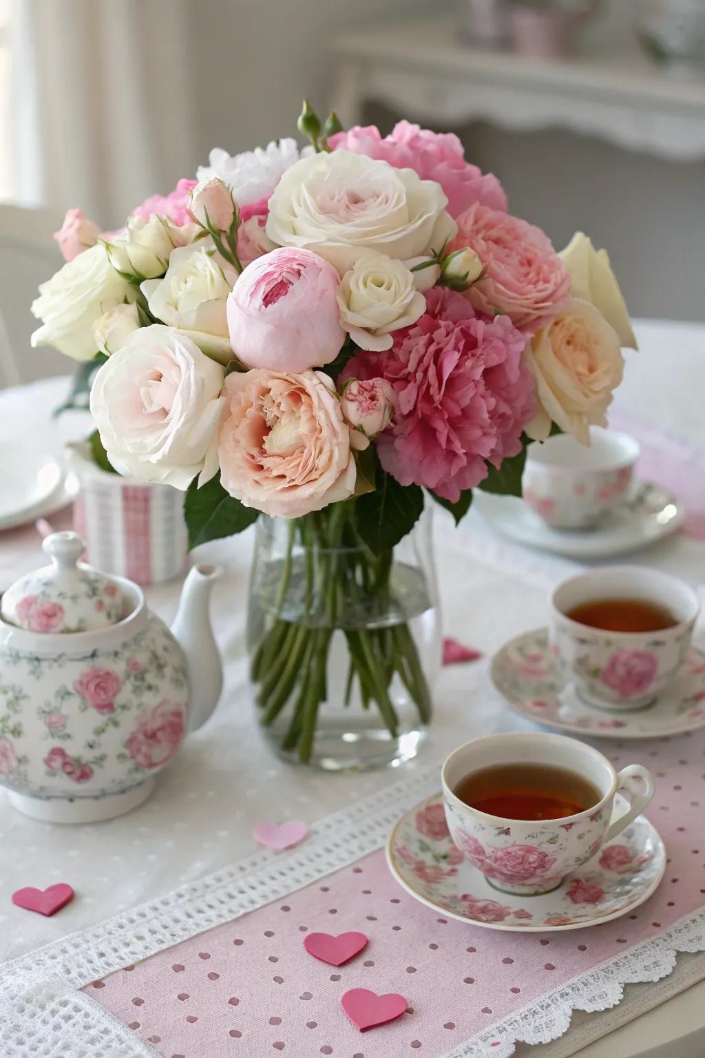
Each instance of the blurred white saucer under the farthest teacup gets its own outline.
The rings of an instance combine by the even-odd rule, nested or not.
[[[683,505],[658,485],[642,481],[630,498],[595,529],[551,529],[516,496],[478,489],[478,510],[493,528],[530,547],[569,559],[598,559],[646,547],[674,532],[685,517]],[[479,500],[479,503],[478,503]]]

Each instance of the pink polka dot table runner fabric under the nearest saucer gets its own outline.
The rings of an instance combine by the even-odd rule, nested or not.
[[[670,959],[664,969],[664,951],[705,948],[697,914],[705,902],[705,735],[616,744],[612,760],[654,771],[649,817],[669,857],[658,891],[623,918],[552,935],[479,929],[413,900],[379,850],[84,991],[166,1058],[508,1055],[532,1009],[540,1032],[541,1011],[550,1019],[582,983],[588,995],[600,981],[656,981],[672,968]],[[369,945],[345,966],[304,950],[310,931],[348,930]],[[361,1034],[340,1006],[359,987],[401,992],[408,1011]],[[615,1001],[602,992],[602,1006]]]

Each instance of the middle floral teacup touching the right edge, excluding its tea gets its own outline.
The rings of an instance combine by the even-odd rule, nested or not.
[[[660,632],[609,632],[567,615],[605,599],[663,606],[678,623]],[[642,709],[652,704],[685,661],[700,601],[692,588],[667,573],[639,566],[606,566],[571,577],[551,599],[551,641],[558,667],[589,705]]]

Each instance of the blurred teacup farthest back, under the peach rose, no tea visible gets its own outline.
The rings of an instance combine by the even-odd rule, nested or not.
[[[590,428],[590,445],[557,434],[528,445],[522,494],[554,529],[596,525],[626,498],[639,456],[628,434]]]

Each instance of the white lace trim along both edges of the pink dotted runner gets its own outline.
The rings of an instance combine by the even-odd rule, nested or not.
[[[159,899],[0,967],[2,1058],[154,1058],[126,1025],[78,989],[98,978],[280,899],[379,849],[398,816],[438,787],[425,767],[382,794],[315,823],[300,849],[261,851]],[[574,1009],[614,1006],[624,985],[658,981],[679,951],[705,950],[705,909],[474,1036],[445,1058],[507,1058],[515,1043],[545,1043]],[[491,1044],[498,1041],[498,1044]]]

